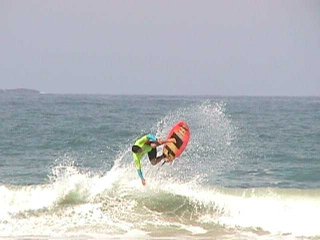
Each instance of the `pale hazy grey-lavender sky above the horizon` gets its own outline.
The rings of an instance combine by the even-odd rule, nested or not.
[[[0,89],[320,96],[319,0],[0,0]]]

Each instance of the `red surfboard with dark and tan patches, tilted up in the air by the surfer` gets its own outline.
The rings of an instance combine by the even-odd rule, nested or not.
[[[167,143],[163,147],[163,154],[168,162],[173,161],[183,153],[190,140],[190,128],[184,121],[178,122],[170,131],[168,138],[175,138],[176,143]]]

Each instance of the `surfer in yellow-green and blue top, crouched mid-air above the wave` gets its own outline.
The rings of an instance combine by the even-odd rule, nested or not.
[[[142,185],[146,185],[146,180],[143,177],[142,173],[142,159],[148,153],[149,160],[152,165],[158,164],[165,156],[162,154],[157,157],[157,147],[166,144],[169,142],[176,142],[174,138],[162,141],[161,139],[156,138],[153,134],[147,134],[135,141],[132,146],[133,159],[138,171],[138,175],[141,179]]]

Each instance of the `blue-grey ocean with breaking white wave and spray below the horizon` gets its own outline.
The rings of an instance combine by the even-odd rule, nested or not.
[[[0,136],[0,239],[320,239],[319,97],[0,93]]]

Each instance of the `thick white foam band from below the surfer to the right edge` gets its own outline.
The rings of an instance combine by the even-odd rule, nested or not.
[[[320,235],[320,194],[309,194],[312,190],[225,191],[197,187],[195,183],[170,184],[165,189],[213,206],[215,213],[199,219],[203,223],[263,229],[274,234]]]

